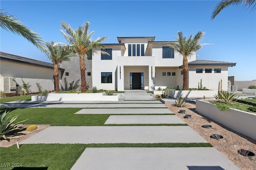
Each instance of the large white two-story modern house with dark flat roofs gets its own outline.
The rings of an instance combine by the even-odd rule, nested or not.
[[[90,89],[124,91],[126,89],[152,90],[183,84],[182,55],[168,44],[175,41],[154,41],[155,37],[117,37],[118,43],[104,43],[105,49],[95,49],[92,57],[85,57],[86,81]],[[104,50],[110,55],[102,54]],[[202,86],[211,90],[228,90],[228,67],[236,63],[188,59],[188,88]],[[79,57],[63,62],[62,84],[79,81]],[[154,80],[154,81],[152,81]]]

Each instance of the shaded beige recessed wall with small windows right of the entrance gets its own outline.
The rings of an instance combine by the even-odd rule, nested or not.
[[[176,86],[176,73],[177,69],[156,69],[156,84],[155,86],[166,86],[167,88],[169,86]],[[166,76],[163,76],[162,73],[166,73]],[[167,73],[170,73],[171,75],[167,75]],[[172,75],[172,73],[175,73],[175,76]],[[157,89],[157,88],[156,88]]]

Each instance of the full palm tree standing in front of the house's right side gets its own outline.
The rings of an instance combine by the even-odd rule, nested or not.
[[[168,45],[174,49],[174,51],[180,53],[183,56],[183,90],[188,89],[188,57],[193,54],[196,54],[196,51],[202,47],[200,41],[204,36],[204,32],[199,31],[194,38],[192,35],[188,39],[183,36],[182,32],[178,32],[178,37],[175,37],[178,42],[174,43],[174,45]]]

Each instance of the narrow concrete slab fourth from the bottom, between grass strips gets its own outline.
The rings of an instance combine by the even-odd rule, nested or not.
[[[167,108],[115,108],[115,109],[81,109],[75,114],[171,114]]]

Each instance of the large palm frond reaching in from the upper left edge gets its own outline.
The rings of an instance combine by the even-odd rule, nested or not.
[[[15,16],[8,15],[6,12],[2,12],[2,10],[0,10],[0,26],[6,31],[23,36],[41,51],[44,50],[44,40],[36,32],[30,30],[16,19]]]

